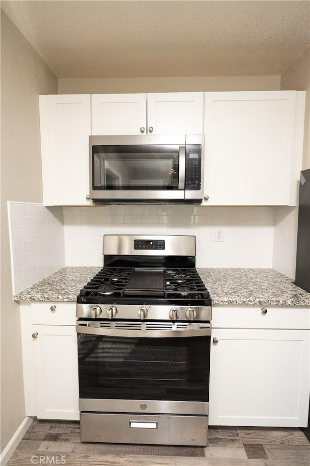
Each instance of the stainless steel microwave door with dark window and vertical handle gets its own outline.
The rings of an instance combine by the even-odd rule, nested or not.
[[[90,136],[93,200],[182,200],[185,166],[182,135]]]

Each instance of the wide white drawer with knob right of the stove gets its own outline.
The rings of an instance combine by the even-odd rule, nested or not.
[[[262,312],[266,310],[267,312]],[[310,306],[212,306],[212,327],[218,329],[310,329]]]

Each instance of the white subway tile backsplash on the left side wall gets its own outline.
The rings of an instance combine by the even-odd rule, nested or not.
[[[62,207],[9,202],[13,293],[59,270],[64,262]]]

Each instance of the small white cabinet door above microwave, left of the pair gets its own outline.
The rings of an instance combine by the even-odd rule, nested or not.
[[[146,94],[93,94],[92,134],[146,133]]]

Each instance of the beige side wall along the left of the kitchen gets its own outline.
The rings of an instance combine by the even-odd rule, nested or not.
[[[57,91],[56,76],[1,10],[1,451],[25,416],[6,203],[42,202],[38,96]]]

